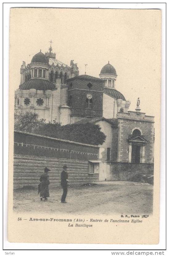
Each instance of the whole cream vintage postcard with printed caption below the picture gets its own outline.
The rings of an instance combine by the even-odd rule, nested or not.
[[[10,242],[159,243],[161,10],[10,9]]]

